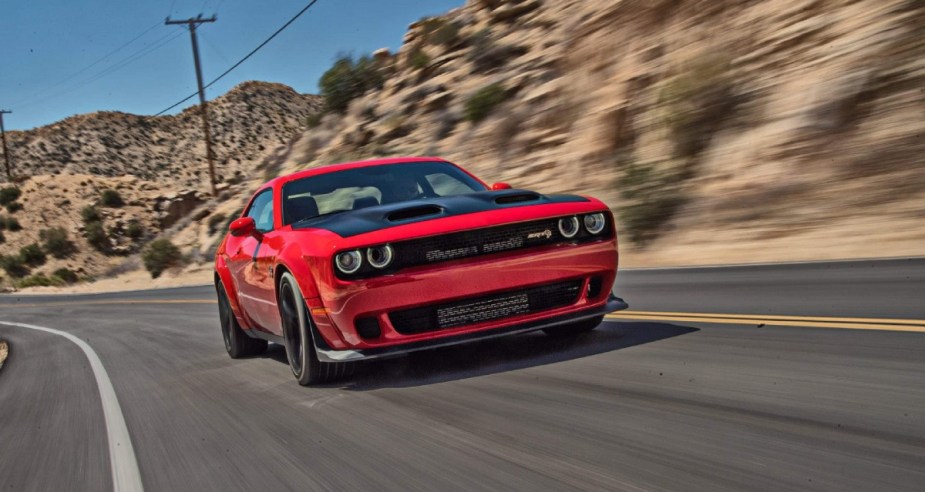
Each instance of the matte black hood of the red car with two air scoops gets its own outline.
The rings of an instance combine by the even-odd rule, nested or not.
[[[293,229],[325,229],[341,237],[455,215],[553,203],[588,202],[577,195],[542,195],[529,190],[483,191],[377,205],[322,215],[292,224]]]

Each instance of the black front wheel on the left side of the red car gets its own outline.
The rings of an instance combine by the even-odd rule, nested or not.
[[[305,311],[305,300],[289,272],[279,281],[279,315],[286,340],[286,358],[292,374],[302,386],[324,383],[347,376],[354,365],[349,362],[321,362],[312,340],[311,317]]]

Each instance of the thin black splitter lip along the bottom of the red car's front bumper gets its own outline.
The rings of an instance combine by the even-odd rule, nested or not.
[[[521,323],[513,326],[507,326],[504,328],[499,328],[495,330],[484,330],[477,331],[472,333],[464,333],[461,335],[453,335],[436,339],[423,340],[418,342],[410,342],[404,345],[392,345],[388,347],[380,348],[370,348],[362,350],[331,350],[328,347],[320,347],[316,343],[315,350],[318,353],[318,360],[322,362],[353,362],[361,360],[373,360],[373,359],[385,359],[389,357],[397,357],[400,355],[408,354],[411,352],[417,352],[419,350],[429,350],[439,347],[448,347],[452,345],[460,345],[464,343],[478,342],[482,340],[489,340],[492,338],[516,335],[519,333],[527,333],[536,330],[542,330],[543,328],[550,328],[553,326],[564,325],[568,323],[574,323],[576,321],[581,321],[588,318],[594,318],[596,316],[601,316],[603,314],[612,313],[614,311],[620,311],[629,307],[623,299],[614,296],[613,294],[607,299],[607,302],[604,304],[584,309],[581,311],[575,311],[568,314],[553,316],[550,318],[545,318],[541,320],[529,321],[526,323]],[[321,340],[318,333],[314,333],[314,339]]]

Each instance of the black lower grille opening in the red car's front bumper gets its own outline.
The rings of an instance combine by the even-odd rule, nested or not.
[[[394,311],[389,313],[389,320],[395,330],[403,335],[494,321],[574,304],[578,300],[581,284],[581,280],[569,280]]]

